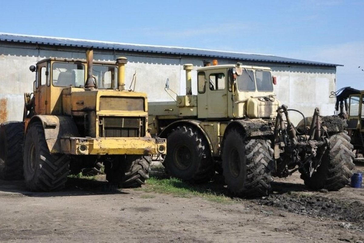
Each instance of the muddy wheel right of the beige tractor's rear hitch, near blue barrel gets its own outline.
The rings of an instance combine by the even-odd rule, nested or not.
[[[353,145],[345,133],[337,133],[330,137],[330,149],[322,157],[321,165],[311,177],[301,172],[305,185],[313,190],[327,189],[337,191],[349,183],[354,169]]]

